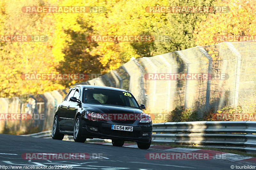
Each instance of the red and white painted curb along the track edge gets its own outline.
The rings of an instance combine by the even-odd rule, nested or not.
[[[92,142],[93,144],[101,144],[101,145],[112,145],[112,143],[105,142]],[[138,148],[137,144],[124,144],[123,147],[129,148]],[[206,150],[206,149],[195,149],[195,148],[178,148],[172,146],[164,146],[164,145],[151,145],[151,150],[165,151],[165,152],[177,152],[177,153],[211,153],[213,156],[210,157],[212,159],[226,160],[230,162],[236,162],[246,165],[256,166],[256,157],[238,155],[234,153]]]

